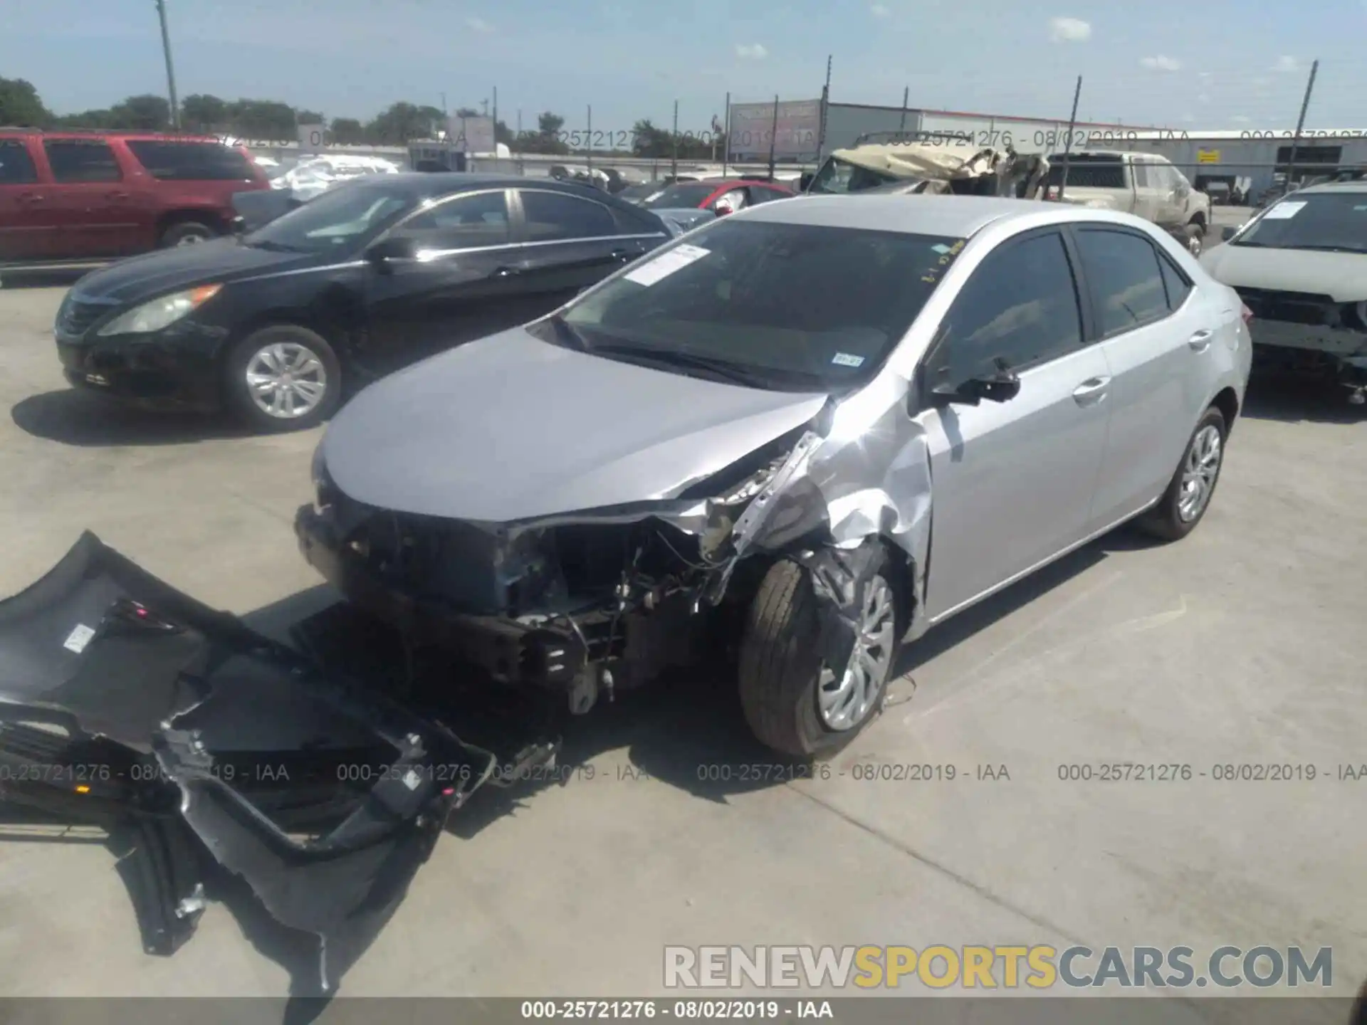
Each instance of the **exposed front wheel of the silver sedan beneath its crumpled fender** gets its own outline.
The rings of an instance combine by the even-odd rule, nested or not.
[[[770,567],[750,603],[738,664],[741,708],[766,746],[797,758],[831,754],[878,715],[897,657],[895,592],[886,564],[865,585],[860,638],[848,666],[826,666],[823,615],[808,571]]]

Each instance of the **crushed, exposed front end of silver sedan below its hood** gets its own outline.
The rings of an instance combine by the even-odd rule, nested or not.
[[[824,502],[802,491],[786,514],[796,533],[768,504],[819,441],[790,432],[667,500],[513,523],[366,506],[316,465],[317,500],[295,533],[314,569],[413,645],[562,693],[582,713],[700,657],[708,614],[760,534],[771,547],[824,522]]]

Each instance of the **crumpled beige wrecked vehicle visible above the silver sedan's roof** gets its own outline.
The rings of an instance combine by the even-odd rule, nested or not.
[[[975,146],[953,133],[875,133],[833,150],[804,175],[811,195],[878,191],[902,194],[1043,198],[1048,161],[1033,153]]]

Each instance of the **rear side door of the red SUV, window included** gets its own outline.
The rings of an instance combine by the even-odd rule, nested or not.
[[[52,171],[51,205],[56,251],[63,258],[112,257],[138,250],[138,219],[130,186],[108,142],[100,138],[44,139]]]

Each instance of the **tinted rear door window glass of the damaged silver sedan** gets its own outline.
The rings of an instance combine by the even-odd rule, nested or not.
[[[1167,316],[1163,272],[1158,251],[1147,238],[1128,231],[1083,228],[1077,232],[1077,249],[1102,338]]]

